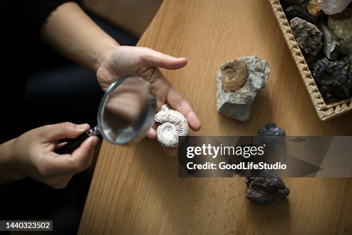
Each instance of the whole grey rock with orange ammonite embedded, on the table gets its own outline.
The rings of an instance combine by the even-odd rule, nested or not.
[[[254,98],[266,86],[269,73],[268,62],[256,56],[221,65],[216,73],[216,110],[231,119],[248,121]]]

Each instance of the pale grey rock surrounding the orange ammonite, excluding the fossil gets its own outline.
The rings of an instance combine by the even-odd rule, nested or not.
[[[229,67],[232,61],[221,65],[216,73],[216,110],[231,119],[248,121],[254,98],[268,82],[270,68],[268,62],[256,56],[238,58],[237,60],[247,65],[248,78],[246,84],[234,92],[226,92],[222,87],[221,78],[225,74],[225,68]]]

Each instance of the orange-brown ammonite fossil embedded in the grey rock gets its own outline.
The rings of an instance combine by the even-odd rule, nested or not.
[[[245,62],[233,60],[225,64],[221,71],[221,83],[226,92],[234,92],[243,87],[248,78]]]

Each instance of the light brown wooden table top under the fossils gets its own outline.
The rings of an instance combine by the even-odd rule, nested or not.
[[[191,135],[257,135],[274,121],[288,135],[349,135],[352,113],[319,121],[268,1],[164,0],[139,46],[187,57],[164,71],[201,119]],[[250,121],[216,112],[221,64],[257,55],[271,67]],[[103,142],[79,234],[344,234],[352,232],[352,179],[285,178],[275,206],[246,199],[243,178],[179,178],[156,141]]]

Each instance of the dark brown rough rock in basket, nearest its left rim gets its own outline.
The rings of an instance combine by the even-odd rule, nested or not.
[[[295,17],[290,20],[295,39],[299,47],[308,54],[316,55],[322,49],[323,34],[314,24]]]

